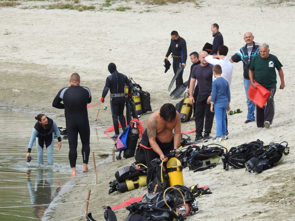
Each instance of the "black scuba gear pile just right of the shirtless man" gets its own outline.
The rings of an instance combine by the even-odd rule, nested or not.
[[[214,145],[214,147],[209,147]],[[227,149],[219,144],[209,144],[201,147],[196,145],[189,145],[182,156],[182,166],[189,167],[189,170],[194,172],[203,171],[211,167],[215,167]],[[220,147],[218,147],[220,146]]]

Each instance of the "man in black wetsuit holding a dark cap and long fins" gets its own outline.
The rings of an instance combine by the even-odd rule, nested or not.
[[[171,55],[173,57],[173,71],[174,74],[176,74],[178,68],[180,68],[182,65],[183,67],[186,66],[187,59],[186,41],[180,37],[176,31],[171,32],[171,43],[164,60],[168,60],[170,53],[172,53]],[[182,75],[183,70],[176,78],[176,87],[183,84]]]

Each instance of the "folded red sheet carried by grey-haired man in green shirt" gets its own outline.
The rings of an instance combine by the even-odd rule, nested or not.
[[[254,83],[258,84],[256,81],[254,81]],[[257,85],[256,88],[250,85],[248,90],[248,98],[260,108],[265,106],[266,100],[270,94],[271,92],[261,85]]]

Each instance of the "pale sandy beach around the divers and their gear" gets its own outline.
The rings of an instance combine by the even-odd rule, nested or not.
[[[286,84],[283,90],[279,90],[281,82],[277,77],[273,124],[269,129],[257,128],[256,123],[244,124],[247,105],[243,69],[241,62],[234,63],[231,108],[239,108],[242,113],[228,116],[230,138],[226,146],[230,149],[257,139],[268,144],[287,141],[289,157],[258,175],[244,169],[224,171],[222,163],[196,173],[185,168],[186,186],[209,185],[212,191],[212,194],[198,198],[199,211],[187,220],[295,220],[295,157],[292,149],[295,141],[295,80],[291,76],[295,67],[291,33],[295,21],[294,1],[206,0],[164,5],[147,4],[148,1],[111,1],[108,7],[102,0],[79,1],[81,5],[95,6],[95,9],[85,11],[49,9],[53,4],[73,3],[64,0],[20,2],[14,7],[0,6],[0,108],[45,113],[53,119],[64,119],[63,110],[53,108],[52,101],[61,88],[69,86],[73,72],[80,74],[81,86],[90,89],[91,104],[101,103],[110,62],[151,94],[153,111],[164,103],[178,103],[181,98],[171,99],[167,91],[173,70],[164,73],[162,64],[172,30],[178,31],[186,40],[188,53],[200,52],[206,42],[212,43],[210,27],[213,23],[219,24],[224,44],[229,48],[228,58],[245,45],[243,35],[247,31],[253,33],[255,42],[268,43],[270,53],[276,55],[283,65]],[[126,10],[117,11],[118,7]],[[172,62],[172,58],[169,59]],[[186,65],[185,81],[189,77],[189,59]],[[91,127],[112,125],[109,99],[105,104],[108,108],[100,110],[97,121],[96,113],[102,105],[88,108]],[[146,121],[151,113],[141,116],[140,121]],[[191,131],[194,127],[194,121],[182,123],[181,131]],[[215,129],[214,120],[213,137]],[[195,138],[194,133],[189,136]],[[85,220],[82,215],[88,189],[91,189],[88,212],[96,220],[104,220],[103,207],[146,194],[144,187],[108,194],[109,182],[115,179],[115,172],[132,162],[134,159],[98,164],[97,185],[94,185],[94,175],[86,176],[94,174],[94,169],[77,174],[78,177],[68,183],[73,186],[62,188],[42,220]],[[115,213],[118,220],[124,220],[129,212],[122,208]]]

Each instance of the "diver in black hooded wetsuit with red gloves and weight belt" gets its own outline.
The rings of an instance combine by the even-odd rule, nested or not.
[[[131,96],[131,90],[133,85],[126,75],[123,75],[122,73],[119,73],[117,71],[117,67],[114,63],[109,63],[108,70],[111,73],[111,75],[109,75],[106,78],[106,84],[104,86],[104,90],[102,92],[100,101],[104,103],[104,98],[110,90],[110,105],[115,130],[115,136],[113,136],[112,138],[117,138],[117,136],[119,135],[119,122],[122,126],[123,131],[126,128],[126,119],[123,113],[126,98],[125,84],[128,86],[127,95],[129,98]]]

